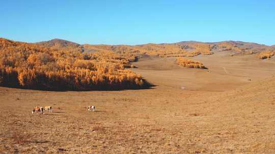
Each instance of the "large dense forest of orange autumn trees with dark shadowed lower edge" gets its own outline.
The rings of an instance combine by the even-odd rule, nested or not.
[[[39,90],[119,90],[144,86],[129,69],[136,58],[82,53],[0,38],[0,86]]]

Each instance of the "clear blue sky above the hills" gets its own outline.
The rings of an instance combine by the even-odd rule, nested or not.
[[[80,44],[275,44],[275,1],[4,1],[0,37]]]

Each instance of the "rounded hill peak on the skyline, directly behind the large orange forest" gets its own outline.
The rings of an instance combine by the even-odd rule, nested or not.
[[[43,42],[38,42],[36,43],[38,45],[44,46],[44,47],[51,47],[51,48],[64,48],[64,47],[72,47],[72,48],[77,48],[80,45],[74,42],[62,40],[59,38],[54,38],[53,40],[50,41],[43,41]]]

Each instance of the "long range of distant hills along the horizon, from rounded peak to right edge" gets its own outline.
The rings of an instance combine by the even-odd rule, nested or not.
[[[58,49],[63,51],[76,52],[106,52],[113,51],[115,53],[134,53],[158,55],[160,57],[178,57],[178,56],[197,56],[199,54],[210,55],[215,52],[229,51],[233,54],[245,53],[261,53],[267,50],[275,50],[275,46],[266,46],[257,43],[249,43],[242,41],[223,41],[223,42],[197,42],[182,41],[178,43],[163,44],[144,44],[144,45],[80,45],[66,40],[53,39],[50,41],[38,42],[37,45]]]

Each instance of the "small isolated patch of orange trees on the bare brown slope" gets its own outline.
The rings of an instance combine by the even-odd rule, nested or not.
[[[201,62],[199,61],[195,61],[195,60],[191,60],[191,59],[187,59],[184,57],[178,57],[176,60],[176,63],[178,65],[181,65],[183,67],[188,67],[188,68],[203,68],[203,69],[207,69],[207,67],[205,67]]]

